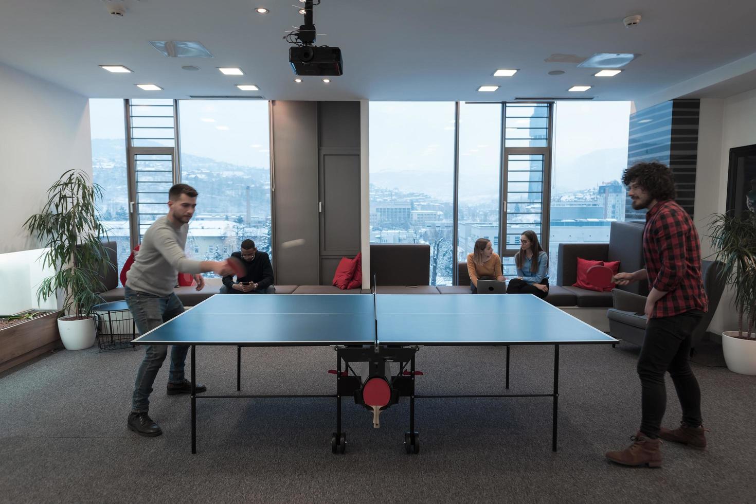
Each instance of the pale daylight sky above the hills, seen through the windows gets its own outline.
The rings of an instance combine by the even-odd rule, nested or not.
[[[92,138],[124,138],[122,100],[91,100]],[[552,184],[581,190],[627,165],[630,102],[558,102]],[[181,152],[268,168],[268,102],[180,100]],[[500,105],[463,104],[460,199],[497,196]],[[371,182],[451,199],[453,102],[371,102]]]

